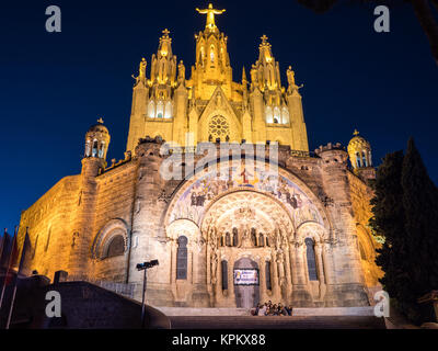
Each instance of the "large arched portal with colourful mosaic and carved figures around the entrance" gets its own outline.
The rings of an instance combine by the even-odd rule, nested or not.
[[[219,162],[214,170],[220,171],[223,166]],[[221,172],[203,169],[182,184],[163,218],[168,237],[174,240],[171,228],[177,223],[196,229],[195,236],[187,236],[189,246],[192,242],[187,264],[188,275],[193,271],[199,279],[196,284],[188,279],[187,284],[197,290],[205,284],[203,288],[215,307],[252,307],[269,299],[289,304],[295,284],[306,290],[319,284],[308,282],[306,252],[299,244],[307,237],[318,242],[315,262],[323,270],[319,233],[328,227],[325,211],[291,173],[281,169],[276,173],[263,161],[254,168],[240,162],[227,166],[223,174],[229,174],[228,179],[220,177]],[[235,282],[240,268],[247,271],[239,274],[252,276],[251,287]],[[316,273],[323,280],[324,275]],[[175,273],[172,281],[177,293],[182,283]],[[181,295],[181,301],[184,298]]]

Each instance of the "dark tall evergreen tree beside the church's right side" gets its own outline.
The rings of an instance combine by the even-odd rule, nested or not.
[[[376,260],[384,272],[380,282],[408,319],[429,320],[431,308],[417,298],[438,288],[438,190],[413,139],[405,156],[384,157],[373,186],[370,226],[385,239]]]

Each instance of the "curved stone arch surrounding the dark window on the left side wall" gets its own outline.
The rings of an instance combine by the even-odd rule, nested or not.
[[[123,238],[124,250],[126,253],[129,247],[128,225],[120,218],[108,220],[94,238],[92,246],[92,257],[97,260],[107,258],[107,250],[113,240],[120,236]]]

